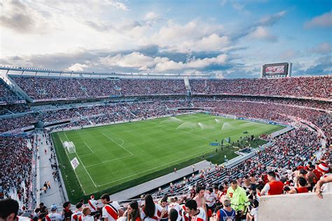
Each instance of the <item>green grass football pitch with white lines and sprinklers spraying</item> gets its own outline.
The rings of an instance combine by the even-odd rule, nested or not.
[[[64,165],[62,176],[69,198],[76,199],[83,194],[117,192],[170,173],[174,166],[180,169],[199,162],[202,155],[215,152],[216,146],[209,143],[220,142],[221,138],[235,141],[240,136],[270,134],[282,128],[192,114],[60,131],[52,137],[57,157]],[[76,153],[64,150],[63,141],[73,141]],[[236,157],[235,151],[225,148],[219,153],[231,159]],[[75,171],[69,163],[74,157],[79,162]]]

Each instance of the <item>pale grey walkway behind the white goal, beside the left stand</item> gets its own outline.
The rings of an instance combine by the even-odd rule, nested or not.
[[[62,191],[59,187],[60,181],[55,181],[53,179],[53,171],[55,169],[52,169],[50,166],[50,155],[51,150],[48,145],[46,145],[46,138],[43,137],[43,133],[38,133],[38,139],[41,138],[41,141],[38,141],[39,145],[39,189],[43,189],[43,184],[47,181],[50,181],[50,188],[46,190],[46,193],[41,190],[40,191],[40,202],[43,202],[45,206],[50,208],[52,204],[57,204],[57,206],[62,206],[62,202],[64,199],[62,199],[62,195],[60,194],[60,191]],[[43,144],[41,144],[43,143]],[[50,143],[49,143],[50,144]],[[45,150],[47,151],[45,153]],[[54,153],[53,153],[54,155]],[[52,159],[52,163],[55,163],[55,159]],[[40,202],[37,202],[39,204]],[[37,205],[38,206],[38,205]]]

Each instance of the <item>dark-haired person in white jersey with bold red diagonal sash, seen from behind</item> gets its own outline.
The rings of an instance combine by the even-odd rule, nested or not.
[[[120,213],[120,205],[117,201],[111,201],[109,199],[109,194],[103,194],[100,197],[102,200],[102,204],[104,204],[104,208],[102,208],[102,218],[104,221],[115,221],[118,219]]]

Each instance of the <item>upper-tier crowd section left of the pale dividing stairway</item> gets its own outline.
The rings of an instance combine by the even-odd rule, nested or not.
[[[34,100],[186,94],[184,80],[12,77]]]

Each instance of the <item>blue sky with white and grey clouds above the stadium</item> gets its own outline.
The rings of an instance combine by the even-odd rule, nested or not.
[[[332,72],[332,1],[0,0],[0,65],[258,78]]]

